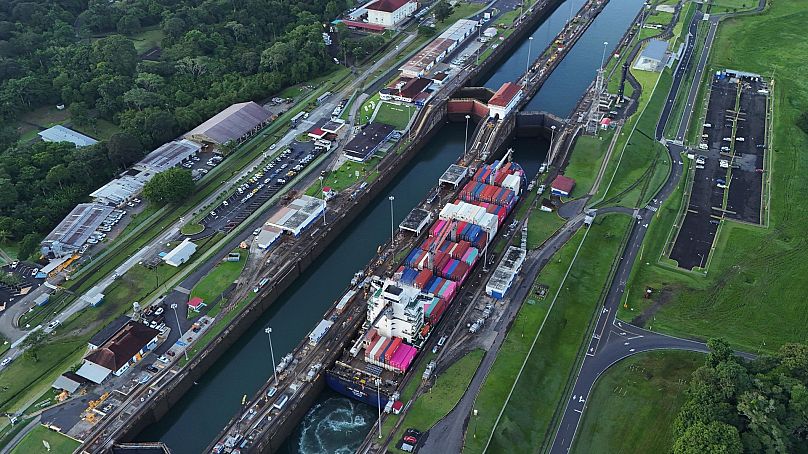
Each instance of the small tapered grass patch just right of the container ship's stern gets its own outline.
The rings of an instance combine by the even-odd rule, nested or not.
[[[418,400],[412,404],[404,417],[404,422],[393,437],[393,441],[400,440],[408,428],[424,432],[446,416],[463,397],[483,356],[485,356],[485,351],[473,350],[439,375],[432,388],[421,394]],[[411,382],[418,383],[419,378],[420,375],[414,375]],[[391,447],[390,451],[401,452],[395,447]]]

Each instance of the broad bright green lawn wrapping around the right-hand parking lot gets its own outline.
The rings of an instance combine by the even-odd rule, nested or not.
[[[772,205],[768,229],[726,222],[716,242],[706,278],[651,262],[630,281],[632,294],[646,286],[662,291],[650,300],[632,297],[633,315],[649,309],[655,330],[699,338],[724,337],[747,351],[776,350],[786,342],[808,341],[808,136],[795,127],[808,110],[808,84],[799,61],[808,58],[803,36],[808,10],[798,2],[774,2],[765,13],[722,22],[711,66],[770,75],[774,136]],[[668,224],[668,227],[670,224]],[[656,241],[659,241],[657,238]],[[646,249],[658,250],[649,242]],[[644,263],[645,261],[643,261]]]

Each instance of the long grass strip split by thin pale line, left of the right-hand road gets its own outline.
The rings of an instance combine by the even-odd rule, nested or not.
[[[467,432],[465,452],[482,452],[492,430],[489,452],[541,450],[630,222],[631,218],[623,215],[596,219],[560,292],[584,230],[578,231],[539,273],[537,284],[549,287],[548,296],[522,306],[508,331],[475,403],[479,416],[474,426],[485,436],[474,437]],[[557,292],[556,304],[548,313]],[[535,347],[527,357],[539,329]],[[523,363],[521,378],[494,428]]]

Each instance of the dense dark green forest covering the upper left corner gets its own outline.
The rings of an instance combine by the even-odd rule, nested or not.
[[[347,3],[0,2],[0,240],[28,238],[31,249],[89,191],[145,151],[229,104],[331,69],[323,24]],[[162,32],[160,51],[149,60],[131,39],[144,28]],[[349,52],[365,51],[358,47]],[[56,104],[67,106],[74,125],[104,119],[122,133],[80,150],[18,143],[20,117]]]

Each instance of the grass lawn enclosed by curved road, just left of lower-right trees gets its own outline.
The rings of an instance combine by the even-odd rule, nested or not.
[[[572,452],[671,452],[673,420],[703,363],[701,353],[658,351],[613,365],[589,396]]]

